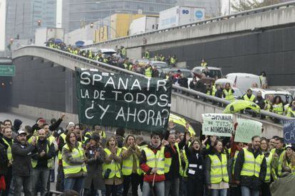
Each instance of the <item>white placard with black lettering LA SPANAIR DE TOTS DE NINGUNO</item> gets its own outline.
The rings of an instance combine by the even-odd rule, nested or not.
[[[232,114],[202,114],[202,134],[207,136],[232,136]]]

